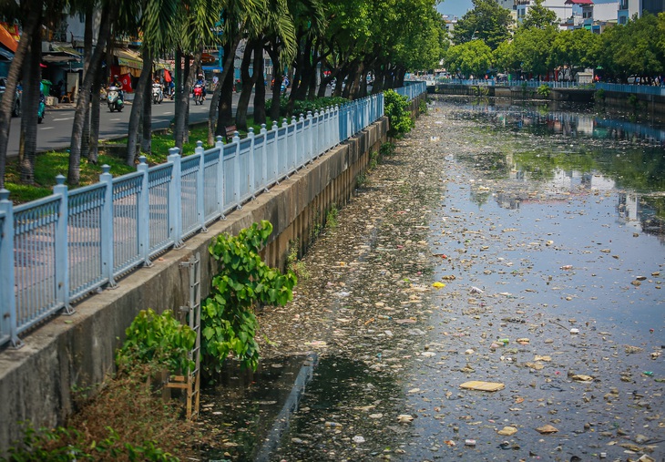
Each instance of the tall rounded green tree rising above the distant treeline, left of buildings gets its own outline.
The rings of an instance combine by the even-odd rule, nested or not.
[[[510,11],[496,0],[474,0],[474,8],[466,12],[453,29],[453,43],[460,45],[481,39],[496,50],[510,36],[512,22]]]

